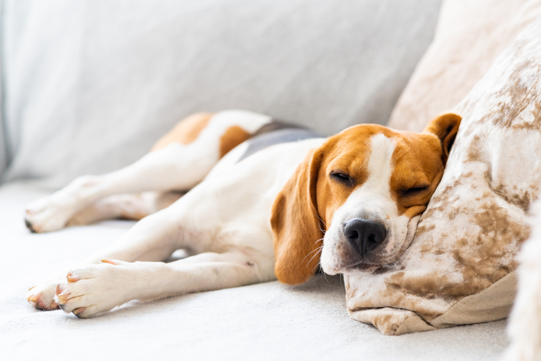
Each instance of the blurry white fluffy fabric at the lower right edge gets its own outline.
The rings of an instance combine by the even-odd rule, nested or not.
[[[511,345],[506,361],[541,360],[541,200],[530,207],[532,233],[518,261],[518,294],[507,333]]]

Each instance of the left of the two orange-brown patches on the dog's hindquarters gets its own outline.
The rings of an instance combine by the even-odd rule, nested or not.
[[[207,126],[214,113],[196,113],[181,120],[169,133],[162,136],[150,149],[151,152],[171,143],[187,145],[197,139],[199,133]]]

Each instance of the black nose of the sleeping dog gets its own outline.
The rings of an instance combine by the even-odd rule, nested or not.
[[[372,251],[387,237],[387,229],[366,219],[350,219],[344,225],[344,234],[362,255]]]

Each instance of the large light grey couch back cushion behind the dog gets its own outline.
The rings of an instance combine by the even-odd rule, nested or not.
[[[199,111],[384,124],[440,2],[6,0],[6,180],[111,172]]]

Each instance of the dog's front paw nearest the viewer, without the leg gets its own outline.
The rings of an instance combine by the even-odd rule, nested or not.
[[[55,300],[62,310],[89,318],[133,299],[130,262],[102,260],[102,264],[71,270],[56,287]]]

